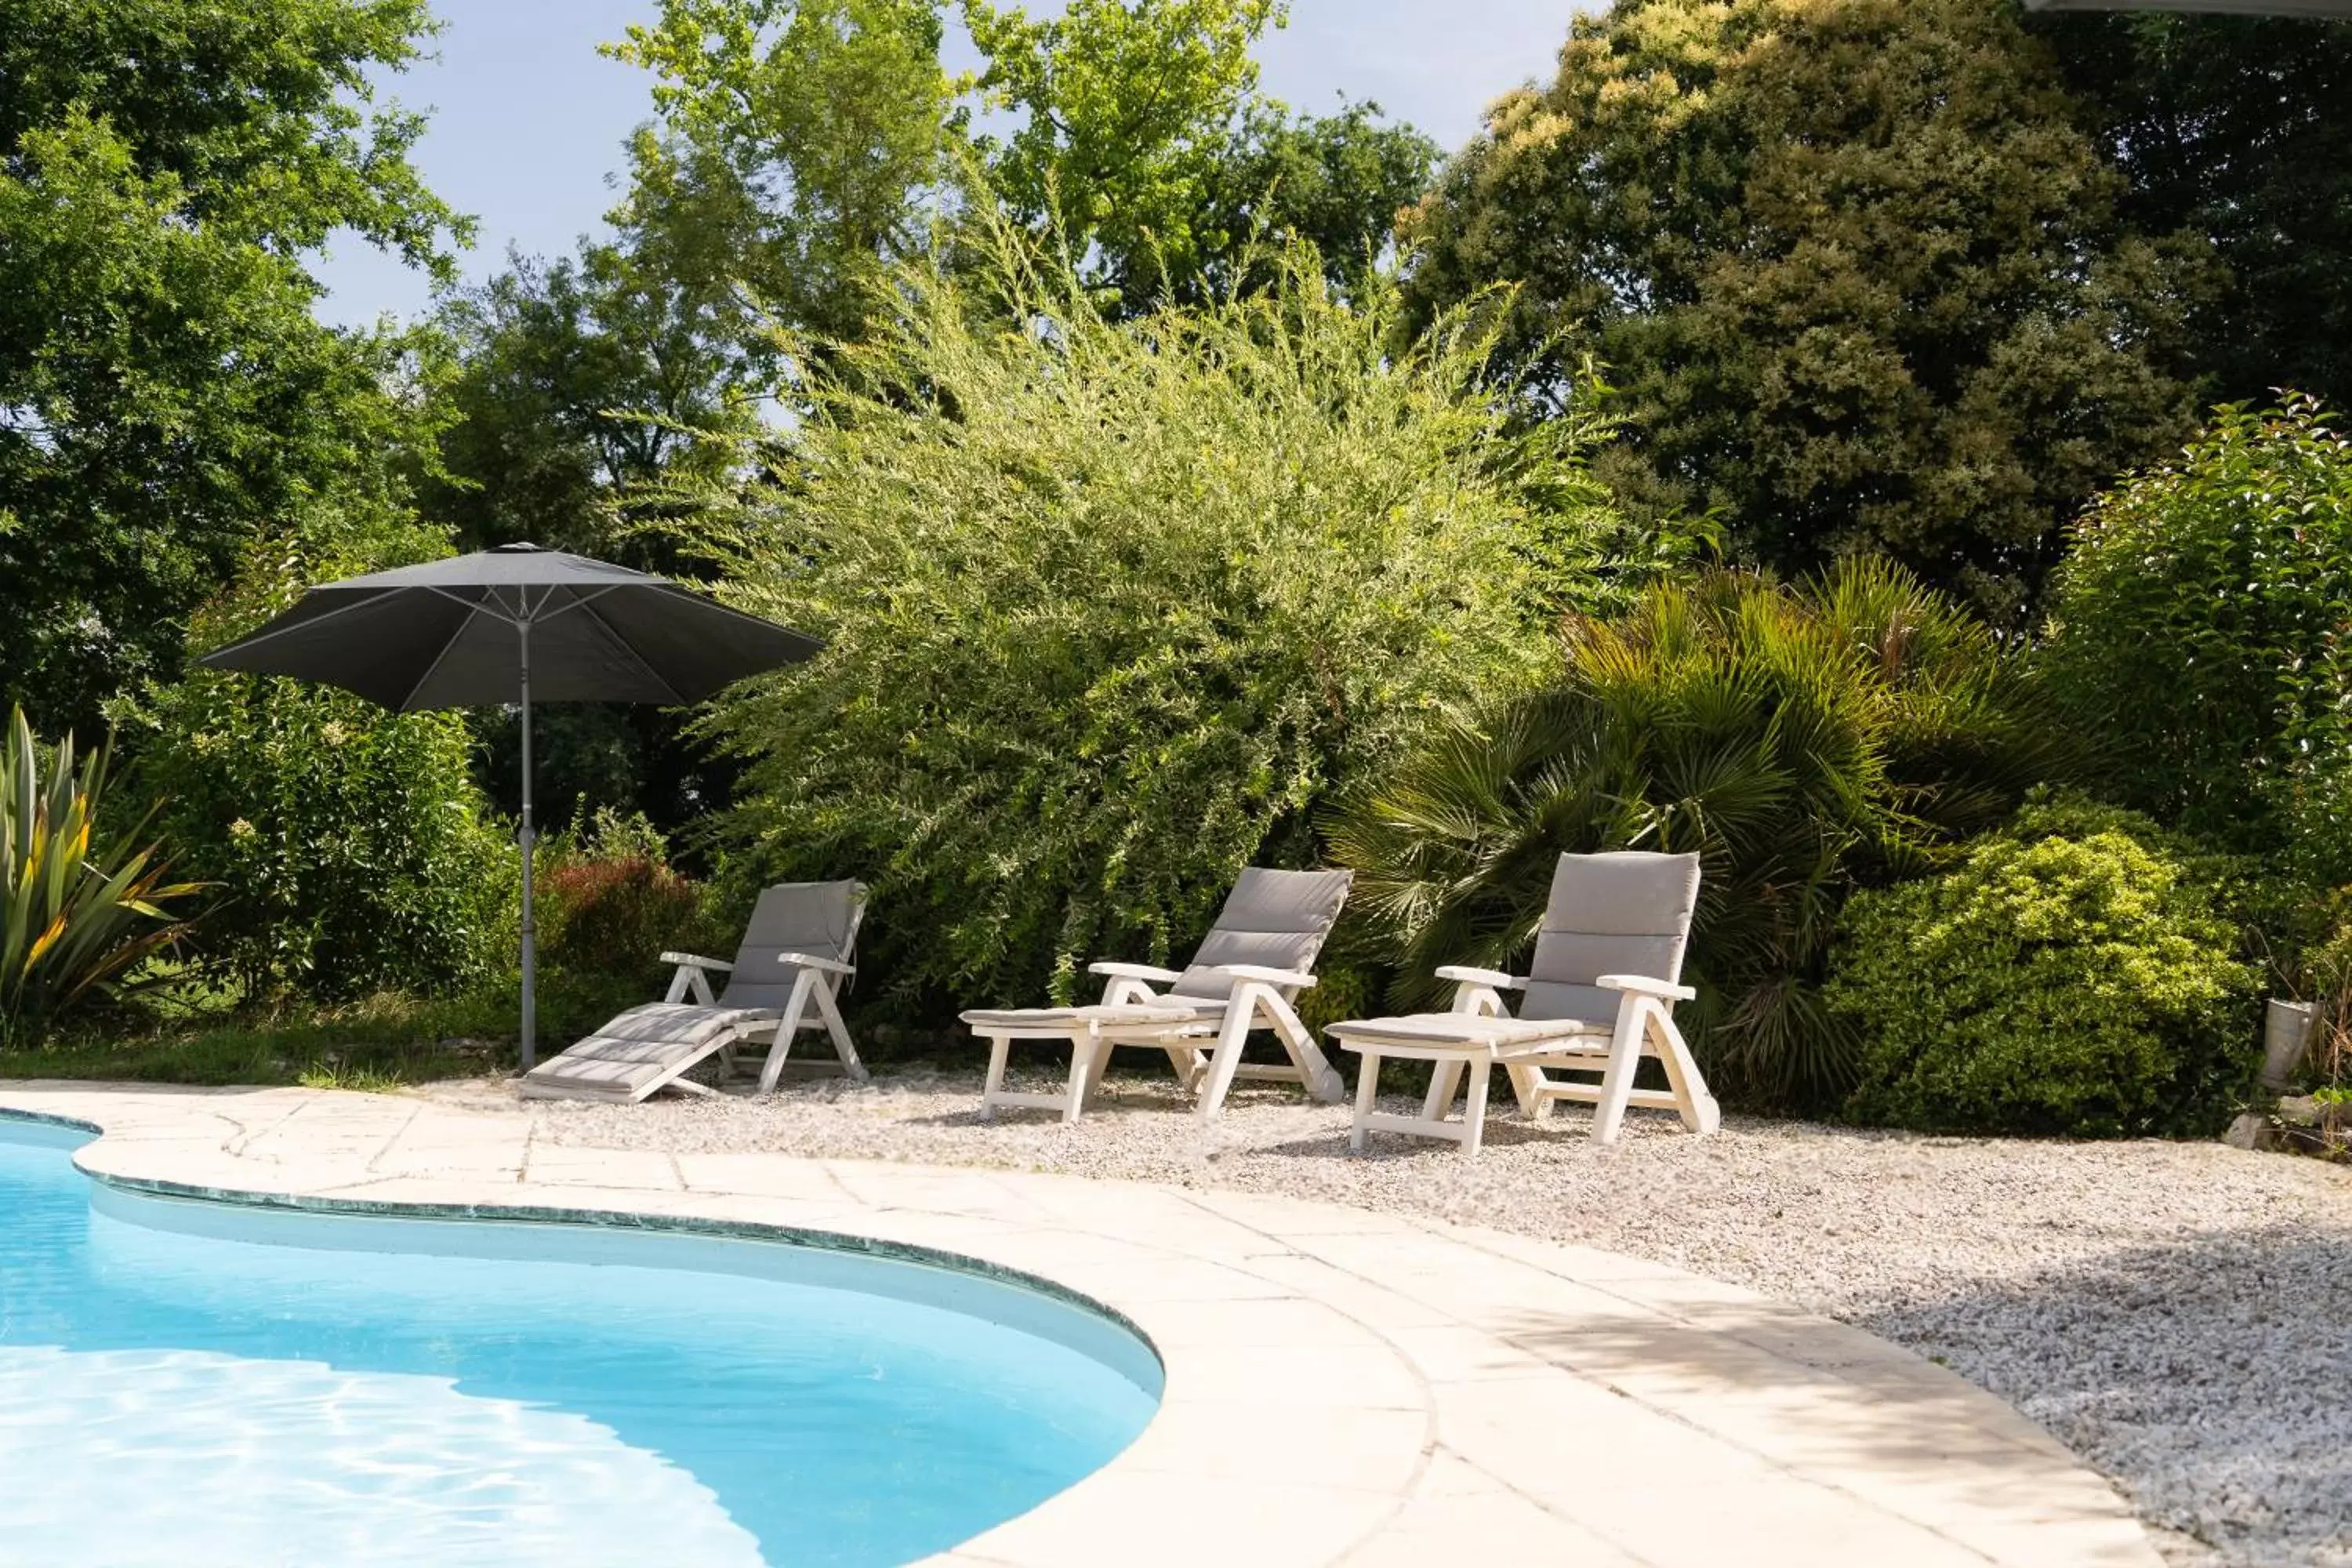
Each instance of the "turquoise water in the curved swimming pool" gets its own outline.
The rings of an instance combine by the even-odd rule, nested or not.
[[[136,1197],[85,1140],[0,1119],[0,1563],[901,1563],[1160,1399],[978,1274]]]

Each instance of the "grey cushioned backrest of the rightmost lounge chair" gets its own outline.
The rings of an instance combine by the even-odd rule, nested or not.
[[[1559,856],[1519,1018],[1609,1023],[1618,994],[1592,985],[1599,976],[1679,983],[1696,907],[1698,856]]]

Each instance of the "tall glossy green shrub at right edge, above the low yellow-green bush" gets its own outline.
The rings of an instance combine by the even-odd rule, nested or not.
[[[2110,491],[2058,576],[2046,663],[2117,795],[2352,879],[2352,442],[2307,397],[2225,407]]]

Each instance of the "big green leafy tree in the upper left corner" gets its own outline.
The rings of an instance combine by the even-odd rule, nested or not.
[[[0,696],[42,726],[176,663],[275,520],[395,496],[423,343],[339,334],[301,254],[461,235],[369,73],[421,0],[0,2]]]

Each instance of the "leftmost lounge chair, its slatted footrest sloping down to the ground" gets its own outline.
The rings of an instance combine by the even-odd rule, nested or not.
[[[842,980],[856,973],[863,919],[866,886],[858,882],[786,882],[762,891],[731,964],[663,952],[663,964],[677,964],[670,994],[628,1009],[541,1063],[524,1074],[522,1098],[637,1103],[661,1088],[710,1093],[687,1079],[687,1070],[720,1053],[731,1074],[734,1051],[746,1041],[771,1041],[760,1093],[774,1093],[802,1030],[830,1034],[842,1072],[863,1079],[866,1063],[840,1009]],[[727,990],[715,997],[713,973],[727,976]]]

